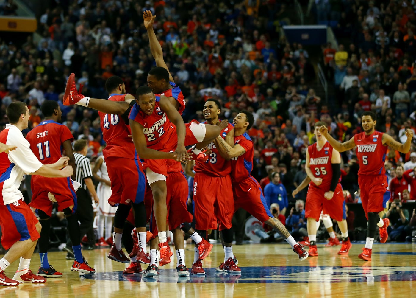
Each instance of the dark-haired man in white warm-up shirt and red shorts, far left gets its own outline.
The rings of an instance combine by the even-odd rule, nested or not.
[[[68,157],[61,157],[55,163],[43,165],[30,150],[29,142],[22,135],[30,116],[25,103],[10,103],[6,115],[10,124],[0,132],[0,143],[5,145],[0,146],[0,151],[3,151],[0,153],[0,227],[3,233],[2,245],[8,251],[0,260],[0,285],[45,283],[46,278],[34,275],[29,269],[30,259],[40,237],[41,225],[23,201],[19,190],[20,183],[25,173],[66,178],[74,174],[74,169],[68,165]],[[4,271],[19,257],[19,268],[15,276],[13,279],[7,278]]]

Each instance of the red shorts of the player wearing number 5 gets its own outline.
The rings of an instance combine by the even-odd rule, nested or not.
[[[372,175],[359,176],[358,185],[360,187],[361,203],[364,213],[379,213],[384,210],[384,193],[387,191],[387,176]]]

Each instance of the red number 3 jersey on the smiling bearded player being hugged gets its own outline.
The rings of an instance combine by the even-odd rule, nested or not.
[[[206,123],[206,122],[204,122]],[[232,130],[234,127],[231,123],[228,123],[228,126],[221,130],[221,136],[223,139],[225,135]],[[216,177],[224,177],[231,173],[231,163],[229,160],[223,158],[220,153],[218,153],[218,149],[215,148],[214,143],[210,143],[208,148],[211,149],[212,153],[210,153],[209,158],[207,161],[200,163],[195,163],[195,167],[193,168],[196,173],[201,172],[208,176],[216,176]]]

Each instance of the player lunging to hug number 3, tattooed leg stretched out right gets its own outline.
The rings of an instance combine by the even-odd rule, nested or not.
[[[265,203],[265,198],[260,184],[250,175],[253,169],[253,141],[247,133],[254,123],[253,114],[242,111],[234,118],[234,145],[228,145],[221,136],[215,138],[214,144],[218,152],[225,158],[231,160],[231,181],[234,195],[234,210],[243,208],[262,223],[267,223],[275,228],[285,238],[293,251],[297,253],[300,260],[308,257],[305,248],[297,243],[290,235],[285,226],[274,218]],[[227,270],[233,265],[233,259],[221,264],[218,270]]]

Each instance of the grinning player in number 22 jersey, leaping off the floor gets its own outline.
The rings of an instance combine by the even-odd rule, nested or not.
[[[147,181],[153,191],[154,215],[163,264],[169,254],[166,242],[166,159],[188,159],[185,145],[201,142],[209,144],[219,135],[220,128],[195,121],[185,126],[181,115],[168,98],[155,96],[148,86],[137,89],[136,104],[131,108],[129,119],[133,142],[136,151],[145,160]]]

